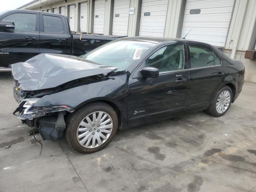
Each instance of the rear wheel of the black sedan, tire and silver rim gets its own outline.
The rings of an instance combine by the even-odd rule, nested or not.
[[[224,86],[214,95],[214,99],[206,112],[214,117],[224,115],[232,102],[232,90],[229,86]]]

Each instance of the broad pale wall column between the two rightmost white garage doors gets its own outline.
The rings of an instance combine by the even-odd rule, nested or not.
[[[186,0],[169,0],[164,37],[180,38]]]

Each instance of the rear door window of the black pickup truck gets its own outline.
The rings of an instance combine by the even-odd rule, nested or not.
[[[44,32],[47,33],[63,33],[63,23],[60,17],[43,15]]]

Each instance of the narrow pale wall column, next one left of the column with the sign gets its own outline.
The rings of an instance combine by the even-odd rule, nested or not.
[[[105,2],[104,35],[112,35],[114,0]]]

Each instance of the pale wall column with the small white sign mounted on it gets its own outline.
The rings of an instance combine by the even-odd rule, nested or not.
[[[130,0],[130,8],[134,7],[134,14],[129,15],[128,36],[138,36],[141,4],[142,0]]]

